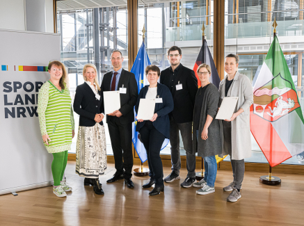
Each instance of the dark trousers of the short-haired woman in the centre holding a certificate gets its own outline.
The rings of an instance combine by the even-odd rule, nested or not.
[[[141,140],[147,151],[147,163],[149,165],[149,176],[155,179],[156,186],[163,186],[163,163],[161,162],[161,145],[165,136],[153,126],[151,121],[146,121],[140,129]]]

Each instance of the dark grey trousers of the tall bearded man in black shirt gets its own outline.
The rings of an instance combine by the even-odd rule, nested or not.
[[[171,170],[179,175],[182,166],[179,152],[179,131],[186,150],[187,177],[195,177],[195,154],[192,154],[192,122],[176,123],[170,118]]]

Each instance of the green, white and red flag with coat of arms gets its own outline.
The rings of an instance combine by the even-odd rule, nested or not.
[[[250,129],[271,167],[304,150],[303,113],[276,36],[253,88]]]

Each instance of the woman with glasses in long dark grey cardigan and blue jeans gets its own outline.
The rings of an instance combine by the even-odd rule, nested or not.
[[[198,77],[202,86],[196,93],[194,104],[193,154],[198,152],[198,156],[204,158],[205,161],[205,178],[193,184],[195,187],[202,187],[196,191],[199,195],[214,193],[218,167],[215,156],[222,153],[220,123],[214,119],[218,110],[220,93],[218,88],[209,82],[210,75],[209,65],[204,63],[198,67]]]

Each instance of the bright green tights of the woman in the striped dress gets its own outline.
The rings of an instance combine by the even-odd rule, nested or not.
[[[63,180],[65,167],[67,166],[67,151],[52,153],[54,160],[51,163],[51,172],[53,173],[54,186],[59,186]]]

